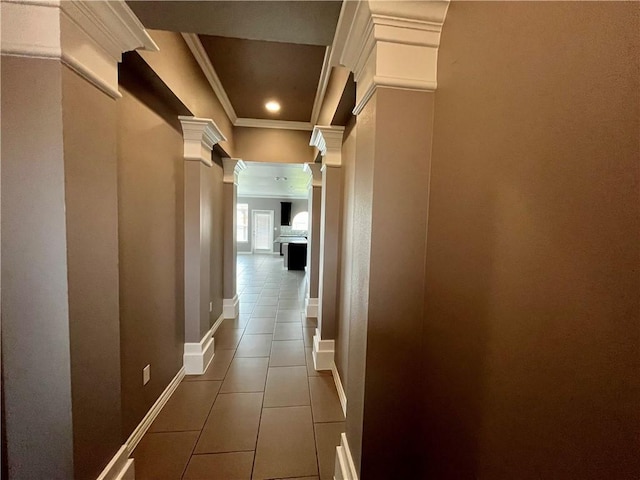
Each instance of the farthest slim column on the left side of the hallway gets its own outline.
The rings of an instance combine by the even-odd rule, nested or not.
[[[224,167],[224,273],[223,307],[224,318],[237,318],[240,313],[238,292],[236,289],[236,202],[238,200],[238,174],[246,168],[239,158],[223,158]]]

